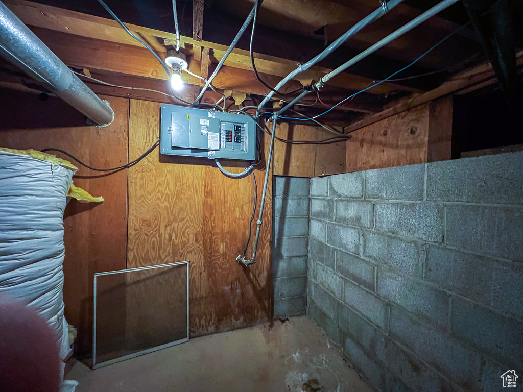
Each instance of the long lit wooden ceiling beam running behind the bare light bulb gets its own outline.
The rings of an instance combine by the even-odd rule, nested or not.
[[[118,24],[112,19],[100,18],[92,15],[77,13],[67,9],[52,7],[44,4],[28,2],[25,0],[8,0],[6,5],[13,13],[28,26],[41,27],[48,30],[60,31],[75,36],[85,37],[88,39],[97,39],[109,41],[118,44],[127,44],[135,47],[141,47],[141,44],[130,37]],[[141,26],[127,24],[127,27],[142,36],[160,38],[160,42],[176,42],[174,33],[160,31]],[[198,61],[198,47],[210,48],[214,51],[215,61],[221,60],[227,50],[225,45],[219,45],[208,41],[196,41],[190,37],[181,37],[181,44],[192,45],[195,52],[195,59]],[[164,50],[164,49],[163,49]],[[163,51],[162,50],[162,51]],[[280,57],[255,54],[256,66],[260,73],[278,76],[276,83],[283,76],[286,76],[296,67],[296,62]],[[246,50],[235,49],[225,61],[224,65],[238,68],[240,70],[252,71],[249,52]],[[328,68],[311,67],[307,72],[295,77],[295,80],[314,79],[319,80],[325,73],[329,72]],[[331,83],[332,82],[332,83]],[[329,82],[332,86],[360,90],[367,87],[373,82],[372,79],[358,75],[342,73]],[[418,89],[412,89],[394,83],[383,83],[376,86],[368,92],[370,94],[390,94],[394,91],[413,91],[421,92]]]

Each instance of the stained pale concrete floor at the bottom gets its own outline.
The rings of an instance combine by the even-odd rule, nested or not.
[[[78,392],[371,392],[306,317],[192,339],[164,350],[67,374]]]

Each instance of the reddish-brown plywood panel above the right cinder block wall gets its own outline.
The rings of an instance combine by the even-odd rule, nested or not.
[[[346,171],[450,159],[452,97],[418,106],[351,133]]]

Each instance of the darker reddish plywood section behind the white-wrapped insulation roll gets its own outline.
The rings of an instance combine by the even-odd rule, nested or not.
[[[128,99],[102,97],[109,100],[116,117],[110,126],[100,129],[87,126],[82,114],[61,99],[41,98],[24,91],[0,90],[0,146],[61,148],[93,167],[127,163]],[[70,160],[60,153],[56,156]],[[82,167],[74,183],[105,198],[103,203],[72,200],[64,214],[65,316],[78,328],[78,350],[83,354],[90,352],[92,344],[93,274],[126,268],[127,172],[107,176]],[[115,313],[115,318],[119,316]]]

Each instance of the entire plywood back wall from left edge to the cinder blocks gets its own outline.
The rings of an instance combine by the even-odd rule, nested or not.
[[[5,102],[0,112],[0,146],[61,148],[94,167],[126,164],[157,139],[161,104],[104,98],[111,102],[116,120],[98,129],[87,126],[82,114],[58,98],[0,89],[0,100]],[[241,170],[243,165],[229,169]],[[264,175],[265,171],[256,171],[258,206]],[[81,355],[89,354],[92,347],[95,272],[189,260],[192,337],[271,318],[272,175],[257,262],[248,268],[241,267],[236,257],[248,234],[252,176],[229,179],[209,160],[169,159],[156,150],[138,165],[117,174],[81,168],[74,181],[105,198],[103,203],[72,201],[64,217],[65,312],[67,320],[78,328]],[[253,222],[253,239],[255,225]],[[104,330],[113,331],[115,336],[137,332],[132,328],[140,328],[141,324],[135,322],[132,312],[140,307],[129,306],[130,302],[141,301],[142,307],[154,306],[157,301],[165,304],[169,299],[165,295],[172,293],[172,288],[155,287],[154,292],[147,290],[141,296],[133,292],[131,297],[118,297],[115,323],[105,320]],[[121,331],[123,318],[134,320],[128,323],[131,330]]]

